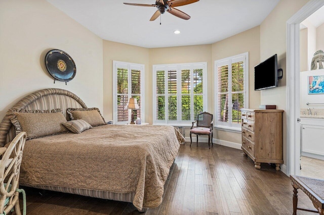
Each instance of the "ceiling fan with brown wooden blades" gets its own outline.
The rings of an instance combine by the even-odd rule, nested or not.
[[[153,14],[150,21],[154,21],[158,16],[164,14],[166,11],[170,14],[175,15],[184,20],[190,19],[190,16],[174,7],[179,7],[183,5],[189,5],[191,3],[198,2],[199,0],[156,0],[154,5],[146,5],[146,4],[133,4],[133,3],[124,3],[125,5],[133,5],[133,6],[144,6],[144,7],[156,7],[157,11]]]

